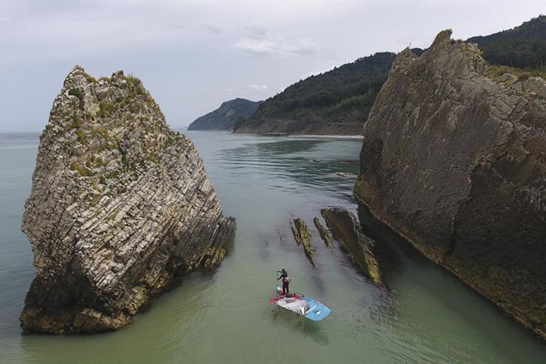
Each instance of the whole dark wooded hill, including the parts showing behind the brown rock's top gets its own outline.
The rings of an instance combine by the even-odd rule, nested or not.
[[[546,16],[486,36],[472,37],[492,73],[544,76]],[[412,49],[420,56],[422,49]],[[387,80],[395,53],[379,52],[307,77],[261,104],[234,126],[235,133],[362,134],[363,125]]]

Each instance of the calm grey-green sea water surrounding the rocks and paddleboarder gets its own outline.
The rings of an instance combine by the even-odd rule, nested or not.
[[[153,301],[132,325],[99,335],[21,335],[34,277],[20,231],[37,134],[0,134],[0,362],[544,362],[546,345],[407,246],[378,241],[384,287],[375,287],[312,218],[355,210],[361,141],[186,132],[237,232],[212,272],[197,272]],[[316,268],[290,233],[313,234]],[[290,290],[332,313],[314,323],[268,302],[276,270]]]

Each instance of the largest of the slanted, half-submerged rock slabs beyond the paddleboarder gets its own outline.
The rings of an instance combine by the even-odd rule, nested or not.
[[[360,224],[351,211],[343,208],[323,208],[322,217],[337,241],[351,254],[364,274],[375,284],[381,284],[381,273],[375,255],[373,242],[360,232]]]

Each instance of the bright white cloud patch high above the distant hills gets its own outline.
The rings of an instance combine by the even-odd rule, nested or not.
[[[280,55],[280,56],[306,56],[318,52],[318,47],[311,41],[298,39],[287,41],[284,39],[252,39],[245,38],[235,43],[235,49],[250,53],[251,55]]]

